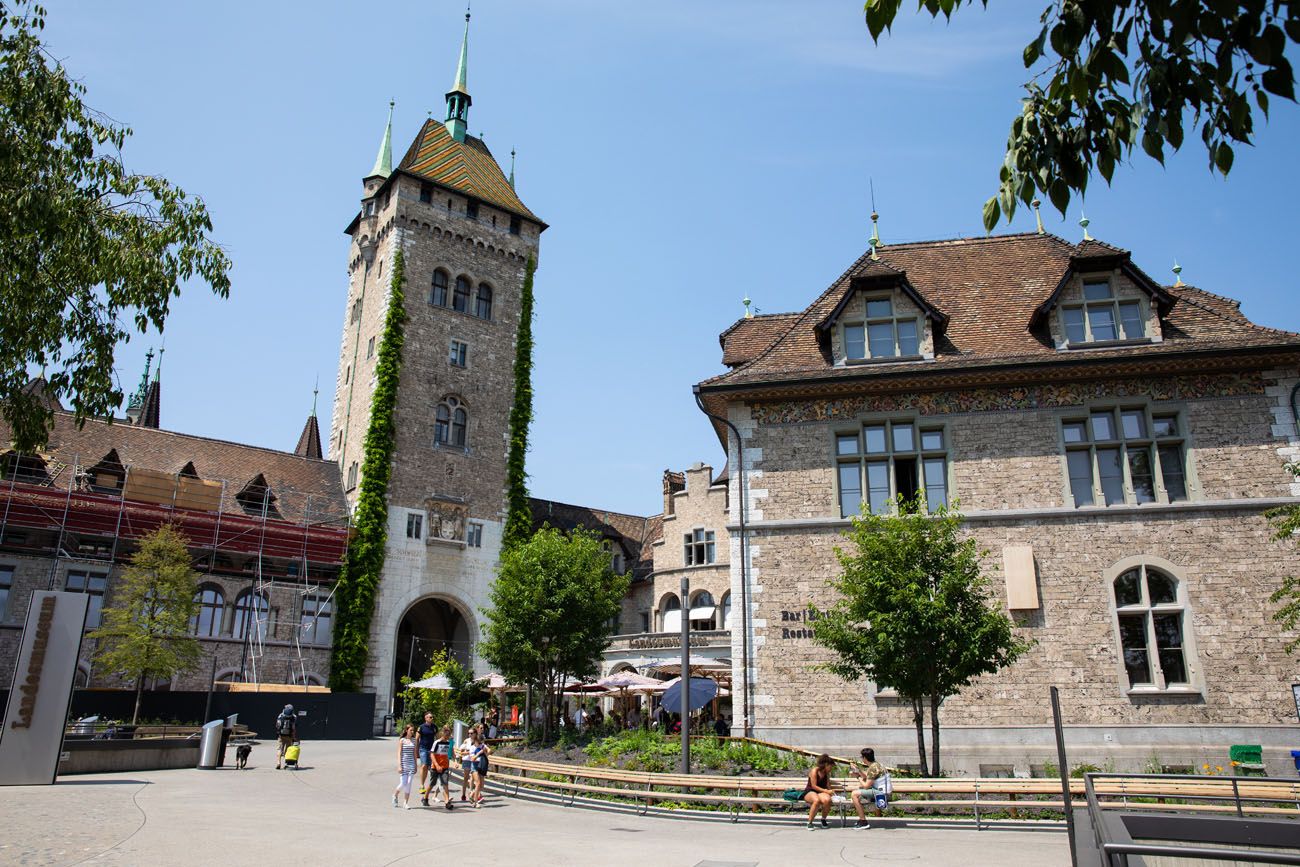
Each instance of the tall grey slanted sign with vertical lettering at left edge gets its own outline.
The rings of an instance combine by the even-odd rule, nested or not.
[[[0,785],[55,781],[88,603],[84,593],[31,594],[0,731]]]

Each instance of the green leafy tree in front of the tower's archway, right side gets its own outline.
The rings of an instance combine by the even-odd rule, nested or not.
[[[598,671],[627,590],[593,533],[543,526],[502,550],[478,650],[507,681],[542,693],[545,738],[564,681]]]

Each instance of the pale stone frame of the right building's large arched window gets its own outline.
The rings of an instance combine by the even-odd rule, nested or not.
[[[1149,604],[1147,599],[1147,586],[1145,581],[1141,581],[1143,602],[1148,604],[1141,606],[1124,606],[1121,608],[1115,602],[1115,580],[1124,572],[1134,568],[1143,568],[1143,577],[1145,578],[1145,567],[1150,567],[1160,572],[1164,572],[1170,578],[1176,582],[1176,597],[1174,603],[1165,604]],[[1192,606],[1187,595],[1187,575],[1183,568],[1175,563],[1156,556],[1152,554],[1139,554],[1134,556],[1127,556],[1118,563],[1113,564],[1109,569],[1102,573],[1104,590],[1106,593],[1106,599],[1110,607],[1110,630],[1115,650],[1115,675],[1117,685],[1127,695],[1196,695],[1205,693],[1205,681],[1201,676],[1200,654],[1196,649],[1196,632],[1192,628],[1193,616]],[[1187,668],[1187,681],[1186,684],[1175,684],[1173,686],[1165,682],[1165,675],[1160,667],[1160,654],[1156,646],[1156,637],[1153,634],[1150,612],[1154,614],[1173,614],[1175,611],[1183,615],[1183,666]],[[1119,615],[1121,614],[1140,614],[1147,612],[1147,653],[1148,653],[1148,666],[1154,680],[1153,684],[1131,685],[1128,682],[1128,669],[1124,666],[1124,646],[1123,637],[1119,632]],[[1152,653],[1156,651],[1156,653]]]

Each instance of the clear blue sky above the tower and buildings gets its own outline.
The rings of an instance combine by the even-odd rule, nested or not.
[[[135,130],[127,166],[203,196],[234,260],[230,299],[190,287],[166,329],[162,424],[291,448],[320,374],[333,399],[347,238],[389,97],[400,156],[441,117],[460,3],[46,0],[47,40],[87,103]],[[660,473],[723,455],[690,387],[748,294],[801,309],[884,240],[980,235],[1041,4],[904,4],[871,43],[859,0],[478,0],[471,131],[519,149],[550,224],[537,274],[537,497],[654,513]],[[1274,100],[1228,181],[1199,136],[1169,168],[1095,181],[1092,234],[1154,277],[1231,295],[1300,330],[1294,304],[1300,112]],[[1044,208],[1050,231],[1076,239]],[[1018,213],[1011,230],[1030,230]],[[1006,229],[1000,229],[1005,231]],[[118,355],[134,389],[144,350]]]

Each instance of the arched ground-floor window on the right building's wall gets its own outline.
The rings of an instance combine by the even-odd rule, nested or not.
[[[1114,594],[1130,689],[1190,686],[1187,606],[1178,578],[1143,563],[1119,573]]]

